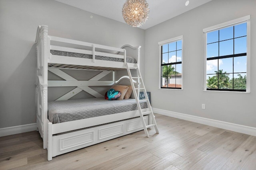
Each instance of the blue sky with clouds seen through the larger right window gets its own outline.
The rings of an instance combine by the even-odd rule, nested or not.
[[[218,57],[224,55],[232,55],[246,53],[247,24],[242,23],[233,27],[220,29],[220,31],[212,31],[207,33],[207,58]],[[220,43],[218,43],[218,34]],[[233,39],[234,43],[233,43]],[[219,50],[218,50],[219,47]],[[234,49],[234,51],[233,51]],[[209,60],[206,64],[206,74],[214,74],[214,71],[223,70],[223,72],[233,72],[232,58]],[[234,72],[246,72],[246,56],[234,57]],[[241,74],[242,76],[246,74]],[[207,75],[214,76],[214,75]],[[232,74],[229,75],[232,78]],[[237,77],[237,74],[234,74]]]

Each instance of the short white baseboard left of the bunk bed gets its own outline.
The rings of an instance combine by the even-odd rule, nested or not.
[[[36,123],[1,128],[0,137],[7,136],[7,135],[14,135],[18,133],[30,132],[30,131],[36,131]]]

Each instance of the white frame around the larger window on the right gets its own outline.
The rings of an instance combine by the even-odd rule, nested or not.
[[[204,70],[203,70],[203,90],[210,91],[210,92],[234,92],[234,91],[220,91],[220,90],[206,90],[206,62],[207,62],[207,33],[211,31],[216,31],[225,27],[230,27],[232,25],[237,25],[239,23],[247,23],[247,56],[246,56],[246,92],[241,93],[250,93],[250,15],[244,16],[235,20],[227,21],[224,23],[220,23],[218,25],[214,25],[208,28],[203,29],[204,33]]]

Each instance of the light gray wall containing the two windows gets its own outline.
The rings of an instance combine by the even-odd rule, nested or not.
[[[191,1],[192,3],[192,1]],[[256,0],[212,0],[146,29],[145,84],[152,107],[256,127]],[[202,29],[251,15],[251,92],[202,91]],[[183,35],[183,88],[158,89],[158,42]],[[206,104],[206,109],[201,109]]]

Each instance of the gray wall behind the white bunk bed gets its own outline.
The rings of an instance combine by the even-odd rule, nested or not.
[[[38,25],[48,25],[49,35],[64,38],[113,47],[141,45],[144,75],[143,29],[54,0],[0,0],[0,128],[36,123]]]

